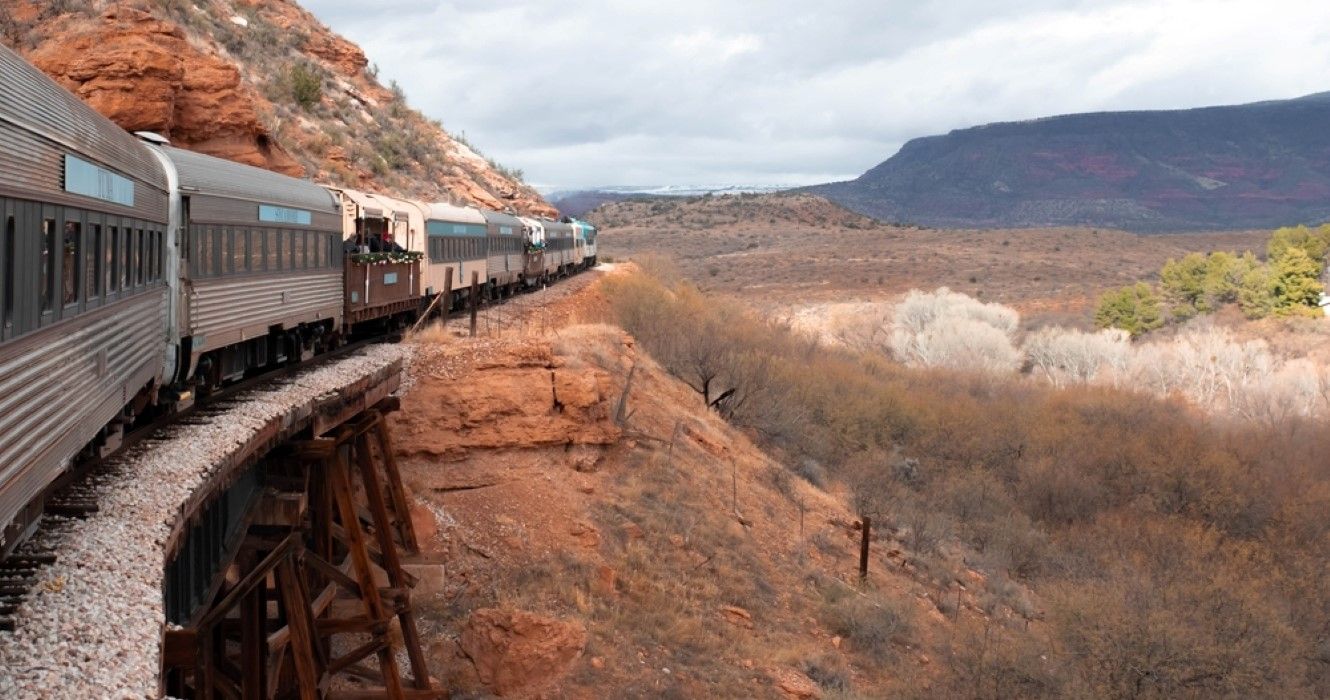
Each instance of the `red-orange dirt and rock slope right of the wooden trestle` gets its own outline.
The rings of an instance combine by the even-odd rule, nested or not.
[[[597,294],[553,302],[571,325],[548,333],[418,341],[394,438],[426,532],[434,673],[515,697],[927,688],[936,644],[988,620],[983,579],[934,580],[887,532],[859,584],[842,496],[702,410],[621,330],[577,325],[601,315]]]

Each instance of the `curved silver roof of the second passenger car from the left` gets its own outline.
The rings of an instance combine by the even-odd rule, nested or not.
[[[336,213],[332,194],[310,182],[174,146],[161,146],[176,165],[181,190],[261,204]]]

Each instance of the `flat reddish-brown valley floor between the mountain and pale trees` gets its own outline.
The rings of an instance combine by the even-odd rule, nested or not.
[[[1138,236],[1099,229],[939,230],[878,224],[810,196],[608,205],[602,256],[666,254],[704,290],[763,310],[891,299],[947,286],[1035,322],[1085,326],[1100,294],[1189,252],[1265,249],[1269,232]],[[834,309],[834,307],[833,307]]]

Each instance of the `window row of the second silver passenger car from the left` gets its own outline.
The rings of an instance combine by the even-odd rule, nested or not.
[[[194,277],[342,266],[340,241],[330,233],[203,226],[192,233]]]

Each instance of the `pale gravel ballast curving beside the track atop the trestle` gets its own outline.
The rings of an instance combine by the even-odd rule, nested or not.
[[[16,631],[0,632],[0,697],[157,697],[164,550],[181,504],[270,421],[406,363],[408,353],[371,346],[130,450],[98,484],[98,512],[45,535],[57,560],[16,611]]]

